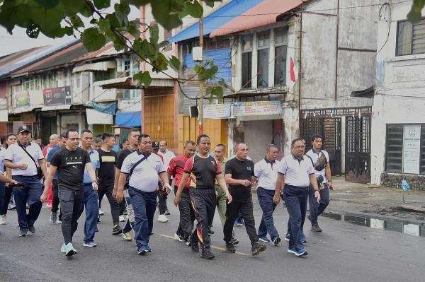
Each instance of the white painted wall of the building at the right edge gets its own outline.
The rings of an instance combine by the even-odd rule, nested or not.
[[[372,107],[373,184],[380,184],[380,174],[385,171],[386,125],[425,123],[425,54],[395,56],[397,21],[407,19],[412,3],[392,4],[391,16],[387,11],[378,22],[378,49],[382,49],[376,58],[376,93]]]

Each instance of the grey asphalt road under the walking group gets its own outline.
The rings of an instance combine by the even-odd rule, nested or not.
[[[172,196],[171,196],[172,197]],[[48,221],[42,208],[37,232],[18,237],[16,211],[8,212],[8,224],[0,225],[0,281],[423,281],[425,237],[368,228],[320,218],[323,233],[311,233],[306,223],[308,256],[288,254],[287,242],[270,243],[253,257],[244,228],[234,228],[241,241],[237,253],[223,251],[222,227],[215,216],[212,252],[215,259],[200,258],[182,242],[174,240],[178,210],[168,200],[169,223],[154,222],[152,253],[138,256],[135,242],[111,235],[112,221],[107,200],[105,216],[98,224],[96,248],[82,247],[82,223],[74,236],[79,251],[72,259],[60,253],[60,225]],[[261,211],[254,204],[258,227]],[[288,214],[283,206],[275,211],[276,228],[283,237]]]

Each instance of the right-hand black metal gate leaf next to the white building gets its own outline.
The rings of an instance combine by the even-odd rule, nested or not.
[[[346,180],[370,182],[370,127],[369,115],[346,117]]]

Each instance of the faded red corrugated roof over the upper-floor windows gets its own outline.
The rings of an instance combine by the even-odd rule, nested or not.
[[[263,0],[260,4],[240,13],[237,18],[227,21],[215,29],[210,37],[237,33],[249,28],[276,23],[278,16],[302,4],[302,0]]]

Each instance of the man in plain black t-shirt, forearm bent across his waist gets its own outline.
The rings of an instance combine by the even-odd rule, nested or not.
[[[223,228],[225,233],[226,248],[232,249],[232,233],[234,220],[239,211],[245,221],[246,233],[251,240],[252,255],[255,256],[266,249],[266,245],[259,242],[254,220],[254,205],[252,204],[251,185],[254,183],[254,163],[248,160],[248,146],[239,143],[236,146],[236,157],[227,160],[225,180],[229,185],[232,203],[227,204],[226,223]]]

